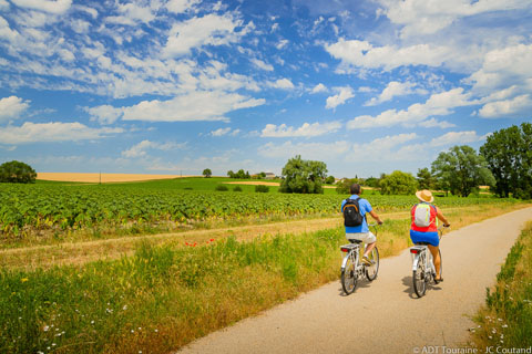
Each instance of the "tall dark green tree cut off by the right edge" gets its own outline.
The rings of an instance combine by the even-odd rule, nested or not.
[[[480,147],[480,153],[493,174],[498,196],[513,194],[516,198],[532,198],[531,123],[494,132]]]

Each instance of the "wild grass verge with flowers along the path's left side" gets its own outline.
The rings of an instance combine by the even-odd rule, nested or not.
[[[456,225],[503,211],[479,210]],[[379,230],[382,256],[408,246],[408,227],[405,218],[387,220]],[[0,352],[168,353],[338,279],[346,242],[342,227],[243,241],[146,239],[115,260],[2,267]]]

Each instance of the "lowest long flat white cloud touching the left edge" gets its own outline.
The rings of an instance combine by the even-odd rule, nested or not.
[[[123,133],[122,128],[90,128],[81,123],[30,123],[0,131],[0,142],[9,145],[41,142],[79,142],[100,139]]]

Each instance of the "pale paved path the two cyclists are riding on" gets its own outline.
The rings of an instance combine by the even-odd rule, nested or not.
[[[447,233],[444,281],[417,299],[408,250],[381,260],[379,277],[344,296],[338,281],[212,333],[182,353],[420,353],[459,347],[532,208]],[[416,347],[421,348],[419,351]],[[181,353],[181,352],[180,352]],[[440,350],[441,353],[441,350]]]

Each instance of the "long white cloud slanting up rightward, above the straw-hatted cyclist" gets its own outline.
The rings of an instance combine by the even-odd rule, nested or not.
[[[471,94],[463,93],[463,88],[453,88],[431,95],[424,104],[416,103],[408,110],[388,110],[377,116],[362,115],[347,123],[348,129],[390,127],[393,125],[411,126],[426,121],[433,115],[448,115],[452,108],[477,104],[470,101]],[[430,125],[430,123],[427,123]]]

